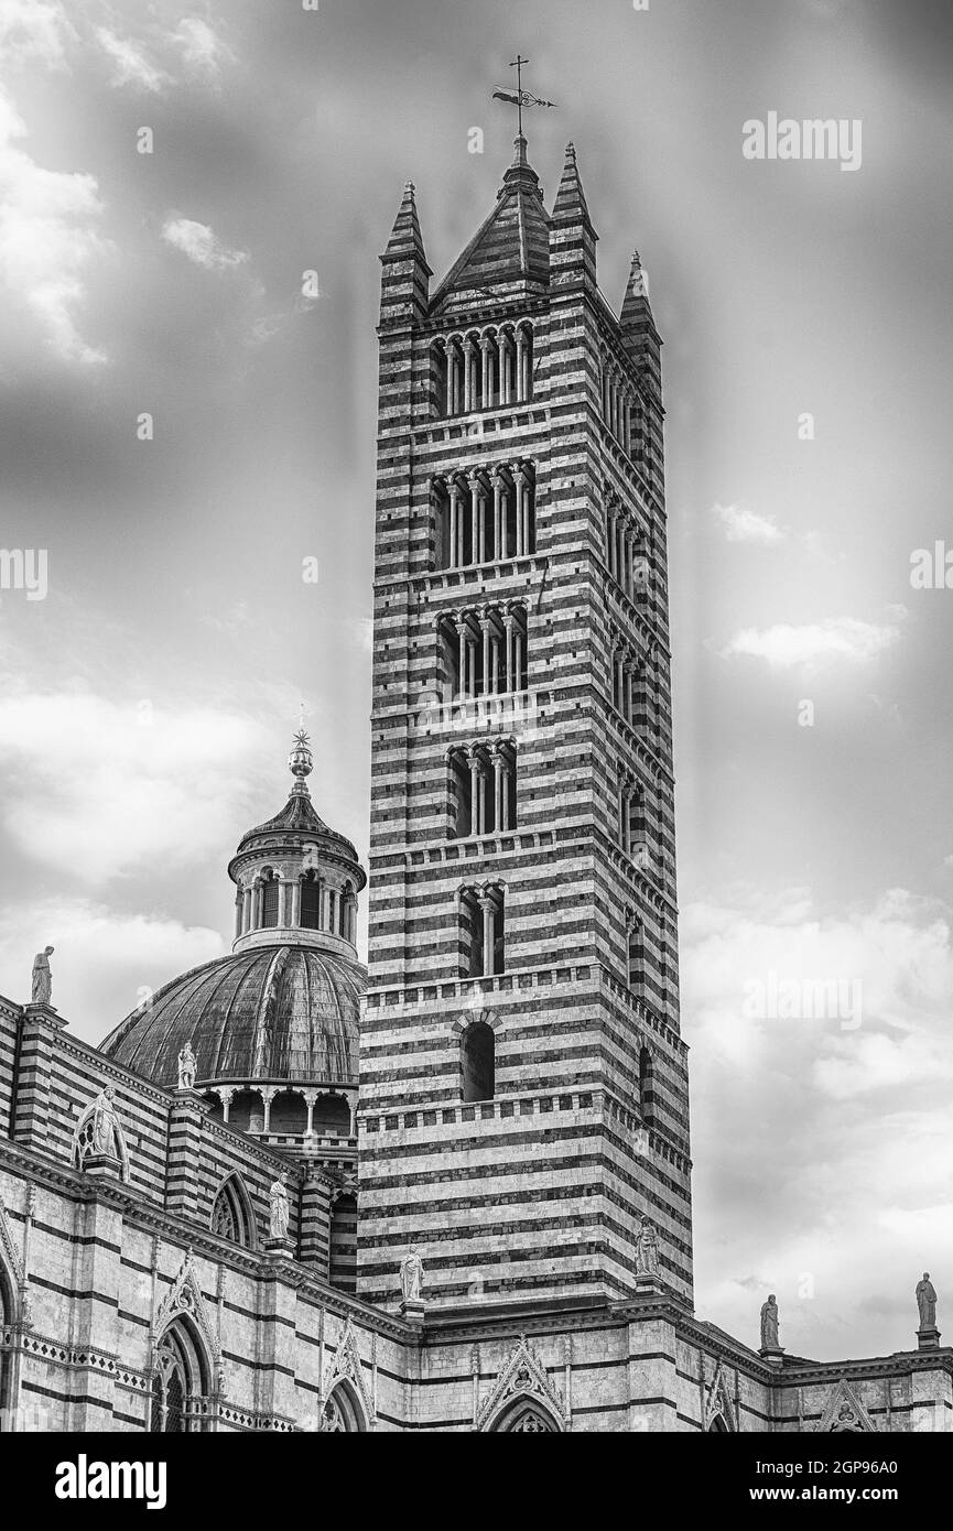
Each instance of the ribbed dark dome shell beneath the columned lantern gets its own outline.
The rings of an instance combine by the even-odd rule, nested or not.
[[[365,971],[313,946],[247,948],[173,978],[101,1044],[116,1063],[175,1087],[192,1043],[196,1085],[215,1081],[352,1084]]]

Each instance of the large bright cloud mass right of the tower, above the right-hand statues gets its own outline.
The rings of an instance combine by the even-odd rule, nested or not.
[[[748,1015],[771,971],[858,980],[861,1024]],[[803,888],[717,890],[683,911],[680,986],[699,1311],[757,1338],[777,1291],[789,1352],[909,1347],[916,1277],[953,1260],[951,911],[906,890],[832,911]]]

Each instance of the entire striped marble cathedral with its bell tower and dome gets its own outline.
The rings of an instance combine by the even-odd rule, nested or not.
[[[953,1428],[953,1350],[694,1314],[660,338],[567,149],[382,257],[369,886],[285,807],[100,1047],[0,1000],[8,1430]],[[368,886],[369,958],[355,949]],[[755,1327],[757,1327],[757,1314]]]

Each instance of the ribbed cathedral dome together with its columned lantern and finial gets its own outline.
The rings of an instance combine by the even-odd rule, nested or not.
[[[188,1043],[196,1087],[222,1099],[231,1087],[265,1096],[271,1085],[357,1089],[366,986],[357,894],[368,879],[351,842],[311,802],[303,730],[288,767],[294,787],[285,807],[248,830],[228,863],[231,954],[164,984],[103,1043],[107,1056],[155,1084],[178,1085]]]

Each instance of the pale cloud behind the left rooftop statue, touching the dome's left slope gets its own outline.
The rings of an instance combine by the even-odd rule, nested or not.
[[[219,931],[127,914],[87,899],[11,906],[0,937],[0,992],[29,1000],[34,955],[52,946],[52,1003],[77,1035],[100,1043],[149,992],[225,952]]]

